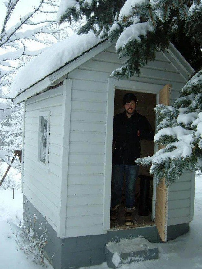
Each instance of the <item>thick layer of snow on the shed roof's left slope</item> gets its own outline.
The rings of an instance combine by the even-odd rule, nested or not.
[[[75,34],[52,45],[34,57],[17,73],[14,84],[11,86],[11,96],[14,98],[103,40],[96,37],[93,33]]]

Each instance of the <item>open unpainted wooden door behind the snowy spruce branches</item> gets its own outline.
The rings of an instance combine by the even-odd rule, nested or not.
[[[167,84],[160,91],[159,103],[169,106],[170,93],[171,85]],[[164,148],[164,146],[160,145],[158,149],[160,148]],[[166,187],[164,179],[161,180],[156,188],[155,223],[161,240],[166,242],[168,226],[168,187]]]

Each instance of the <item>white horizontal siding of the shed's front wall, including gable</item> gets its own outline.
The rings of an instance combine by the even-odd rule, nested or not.
[[[111,46],[68,75],[72,80],[72,100],[66,237],[103,233],[107,82],[124,60],[118,59]],[[141,68],[139,78],[134,75],[129,80],[134,81],[136,91],[135,81],[158,85],[158,88],[172,84],[172,103],[186,82],[161,52],[157,52],[154,62]],[[190,195],[191,177],[187,174],[186,180],[180,179],[180,183],[170,187],[169,224],[186,222]]]

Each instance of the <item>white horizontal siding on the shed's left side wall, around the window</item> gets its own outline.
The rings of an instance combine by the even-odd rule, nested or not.
[[[23,192],[37,210],[58,229],[61,181],[63,86],[26,101]],[[49,170],[37,161],[39,112],[50,111]]]

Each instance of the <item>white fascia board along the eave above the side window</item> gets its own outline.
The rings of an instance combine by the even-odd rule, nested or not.
[[[51,86],[51,82],[49,78],[45,78],[38,83],[36,83],[34,86],[30,87],[29,89],[25,90],[18,96],[16,96],[12,101],[14,104],[19,104],[23,102],[24,100],[30,98],[31,96],[36,95],[37,93],[45,91],[49,86]]]

